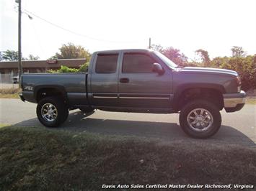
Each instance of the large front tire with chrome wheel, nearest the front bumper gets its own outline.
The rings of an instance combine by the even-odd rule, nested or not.
[[[187,135],[206,139],[219,131],[221,113],[209,101],[191,101],[180,112],[180,126]]]

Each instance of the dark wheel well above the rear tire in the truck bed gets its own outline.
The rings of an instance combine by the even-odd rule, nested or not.
[[[65,96],[61,90],[58,90],[58,88],[41,88],[40,90],[37,90],[36,101],[38,103],[41,99],[49,96],[57,96],[62,98],[63,101],[66,101]]]

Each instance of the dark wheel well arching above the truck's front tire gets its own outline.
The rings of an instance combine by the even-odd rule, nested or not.
[[[177,98],[176,110],[180,111],[186,103],[195,99],[210,101],[221,110],[224,107],[224,98],[219,90],[211,88],[189,88],[183,90]]]

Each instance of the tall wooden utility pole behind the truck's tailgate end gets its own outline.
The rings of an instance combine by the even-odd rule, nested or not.
[[[18,69],[18,72],[19,72],[19,82],[20,82],[20,77],[23,73],[22,71],[22,0],[15,0],[15,2],[19,4],[19,27],[18,27],[19,28],[19,37],[18,37],[19,69]]]

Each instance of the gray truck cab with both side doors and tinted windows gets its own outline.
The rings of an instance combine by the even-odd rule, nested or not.
[[[172,112],[172,69],[152,51],[94,52],[88,79],[89,101],[102,110]]]

